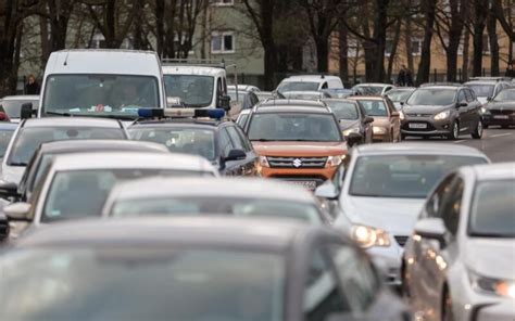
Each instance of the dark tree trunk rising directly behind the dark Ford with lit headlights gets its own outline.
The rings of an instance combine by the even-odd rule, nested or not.
[[[418,72],[416,76],[417,85],[429,81],[431,68],[432,28],[436,18],[436,0],[427,0],[423,4],[426,24],[424,26],[424,42],[422,43],[420,62],[418,64]]]

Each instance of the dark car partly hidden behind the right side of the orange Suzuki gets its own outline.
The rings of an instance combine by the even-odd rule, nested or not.
[[[372,143],[374,118],[366,115],[365,108],[360,103],[347,99],[325,99],[323,102],[335,114],[346,139],[351,132],[355,132],[362,136],[361,143]]]

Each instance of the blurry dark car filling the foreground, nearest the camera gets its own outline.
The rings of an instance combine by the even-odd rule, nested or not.
[[[13,294],[0,300],[1,320],[410,317],[341,232],[291,221],[212,215],[63,222],[9,246],[0,266],[0,288]]]

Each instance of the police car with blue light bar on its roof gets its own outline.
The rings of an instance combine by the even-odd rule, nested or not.
[[[130,139],[165,144],[171,152],[200,155],[223,176],[255,176],[252,144],[224,110],[140,110],[128,128]]]

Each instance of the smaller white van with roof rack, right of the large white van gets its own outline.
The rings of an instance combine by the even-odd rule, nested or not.
[[[186,107],[228,108],[224,63],[163,60],[163,74],[168,99],[179,99]]]

